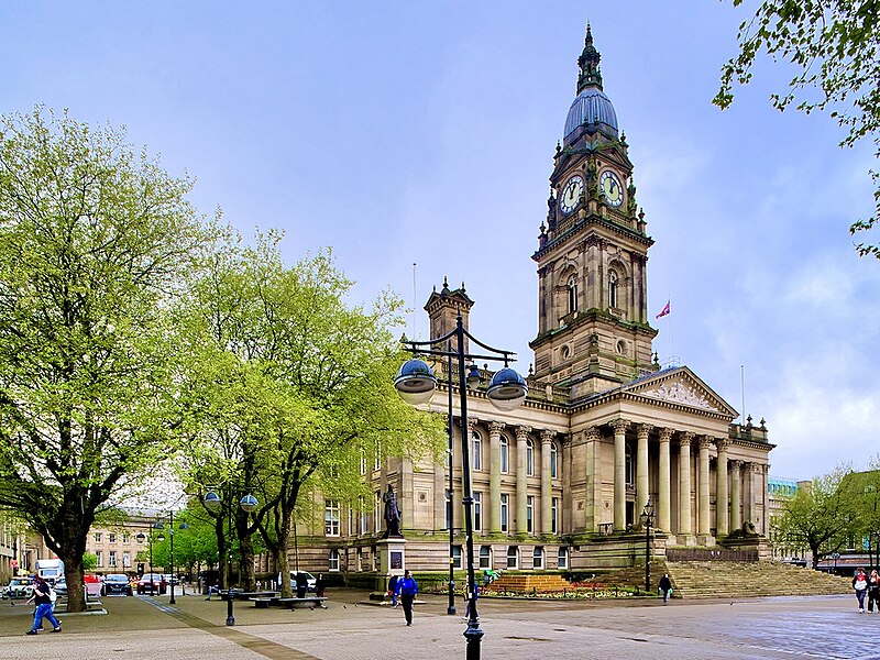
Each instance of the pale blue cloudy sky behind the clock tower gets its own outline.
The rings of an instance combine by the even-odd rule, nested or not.
[[[672,299],[661,361],[737,409],[745,365],[772,474],[862,468],[880,417],[880,263],[847,228],[872,208],[876,162],[867,144],[839,150],[826,117],[770,107],[783,66],[762,63],[729,111],[711,105],[747,15],[706,0],[10,0],[0,109],[124,124],[197,178],[204,213],[245,235],[283,228],[290,263],[332,246],[355,301],[391,287],[411,306],[417,263],[409,333],[427,332],[432,286],[464,280],[472,331],[525,372],[530,255],[588,18],[657,241],[651,314]]]

